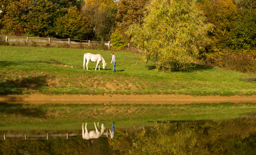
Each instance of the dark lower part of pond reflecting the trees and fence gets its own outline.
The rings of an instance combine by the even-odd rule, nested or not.
[[[93,126],[93,125],[90,125]],[[100,128],[100,127],[99,127]],[[0,154],[256,154],[255,115],[218,121],[155,122],[152,127],[0,133]]]

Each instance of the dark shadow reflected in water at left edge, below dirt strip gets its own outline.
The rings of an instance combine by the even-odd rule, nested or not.
[[[37,107],[23,107],[23,104],[6,102],[0,102],[0,107],[0,113],[5,113],[6,115],[12,116],[12,114],[15,114],[18,116],[46,118],[46,112]]]

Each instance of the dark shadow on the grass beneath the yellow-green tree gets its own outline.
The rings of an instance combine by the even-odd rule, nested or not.
[[[210,69],[213,69],[213,67],[210,67],[210,66],[206,66],[206,65],[199,65],[199,64],[191,64],[192,66],[195,66],[195,67],[192,67],[190,69],[186,69],[186,70],[182,70],[182,71],[179,71],[178,68],[176,69],[173,69],[171,72],[194,72],[194,71],[201,71],[201,70],[210,70]],[[150,66],[146,66],[148,68],[148,70],[154,70],[156,69],[156,66],[155,65],[150,65]]]

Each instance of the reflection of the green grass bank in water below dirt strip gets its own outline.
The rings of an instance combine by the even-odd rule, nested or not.
[[[72,130],[82,122],[104,122],[111,128],[152,126],[154,121],[190,122],[253,115],[252,103],[187,105],[0,104],[0,130]],[[89,127],[90,128],[90,127]]]

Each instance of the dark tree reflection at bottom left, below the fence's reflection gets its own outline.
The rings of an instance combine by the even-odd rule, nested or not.
[[[107,137],[75,139],[0,141],[0,154],[112,154]]]

